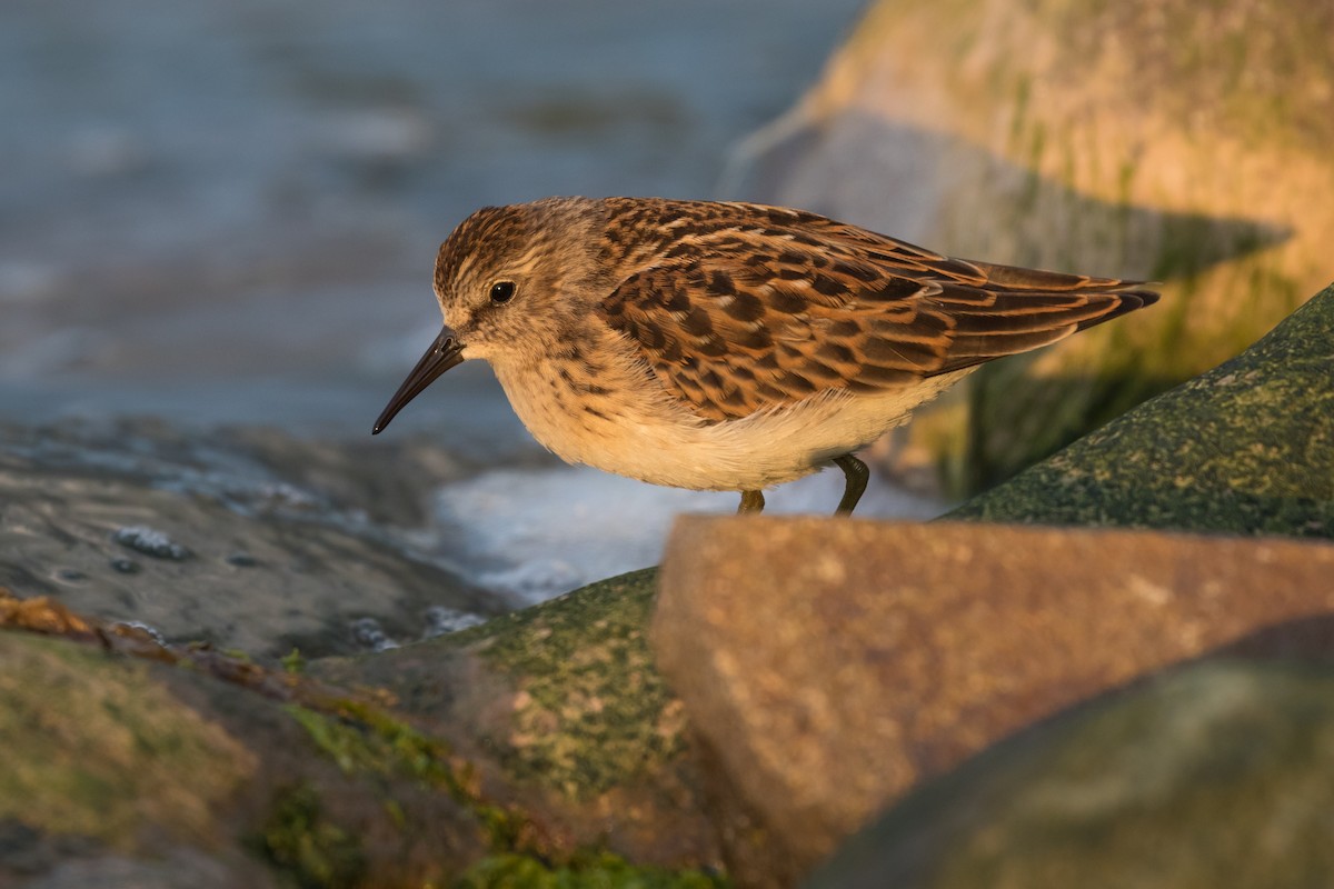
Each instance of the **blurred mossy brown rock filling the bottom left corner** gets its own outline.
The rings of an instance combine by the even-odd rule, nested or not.
[[[205,886],[419,885],[480,860],[508,817],[364,696],[15,601],[0,597],[0,626],[28,630],[0,630],[0,885],[103,868],[181,885],[172,861]]]

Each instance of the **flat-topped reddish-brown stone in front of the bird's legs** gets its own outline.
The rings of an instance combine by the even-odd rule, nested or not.
[[[1321,544],[687,517],[654,642],[759,829],[732,832],[728,864],[782,885],[791,870],[743,872],[752,846],[802,873],[988,744],[1262,628],[1269,648],[1329,644],[1306,618],[1330,609]]]

